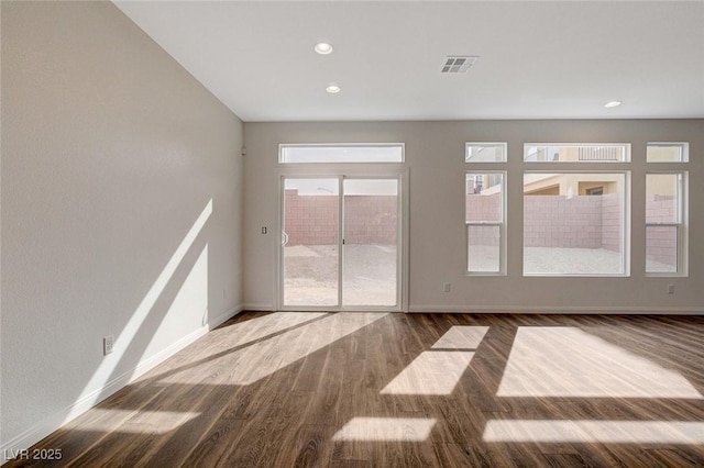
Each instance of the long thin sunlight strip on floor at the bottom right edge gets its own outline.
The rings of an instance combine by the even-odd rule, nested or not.
[[[487,421],[484,442],[704,444],[704,423],[681,421]]]

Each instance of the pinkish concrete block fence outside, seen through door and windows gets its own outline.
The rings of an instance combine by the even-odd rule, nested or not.
[[[499,196],[466,196],[466,221],[501,221]],[[338,243],[338,197],[300,196],[286,190],[286,233],[288,245]],[[618,194],[526,196],[524,238],[527,247],[605,248],[620,252],[623,207]],[[648,222],[673,222],[676,201],[657,197],[647,200]],[[393,196],[348,196],[345,200],[345,242],[349,244],[395,244],[397,199]],[[472,245],[497,246],[499,230],[471,226]],[[649,259],[676,264],[676,231],[648,230]]]

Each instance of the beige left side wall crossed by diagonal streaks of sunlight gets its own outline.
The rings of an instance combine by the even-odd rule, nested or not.
[[[8,449],[240,309],[242,123],[110,2],[1,8]]]

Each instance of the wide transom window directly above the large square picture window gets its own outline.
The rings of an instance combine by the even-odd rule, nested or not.
[[[527,143],[526,163],[626,163],[630,145],[625,143]]]

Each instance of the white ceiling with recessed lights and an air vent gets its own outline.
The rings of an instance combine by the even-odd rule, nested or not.
[[[704,118],[704,1],[116,4],[249,122]]]

